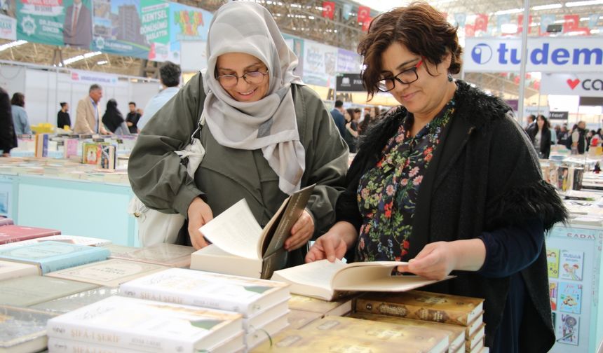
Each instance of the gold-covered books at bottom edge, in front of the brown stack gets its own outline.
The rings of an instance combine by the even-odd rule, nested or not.
[[[448,352],[448,335],[424,327],[324,317],[283,331],[252,352]]]

